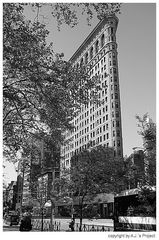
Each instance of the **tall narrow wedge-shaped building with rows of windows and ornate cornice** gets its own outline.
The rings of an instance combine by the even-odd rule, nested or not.
[[[73,120],[74,131],[65,135],[70,141],[62,147],[61,168],[69,168],[71,157],[86,149],[90,141],[92,147],[113,147],[115,157],[123,156],[117,26],[115,15],[102,20],[70,59],[74,66],[85,64],[90,78],[100,76],[102,104],[89,103],[81,107]]]

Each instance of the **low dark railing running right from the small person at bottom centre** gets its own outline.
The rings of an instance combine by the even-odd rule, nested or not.
[[[79,231],[80,224],[75,224],[75,231]],[[112,226],[103,226],[103,225],[89,225],[89,224],[82,224],[81,231],[82,232],[108,232],[113,231],[114,228]]]

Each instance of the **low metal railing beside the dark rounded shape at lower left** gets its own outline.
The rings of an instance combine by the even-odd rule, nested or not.
[[[42,220],[41,219],[32,219],[32,227],[35,230],[41,231]],[[60,222],[54,221],[52,226],[50,220],[43,220],[43,231],[60,231],[61,224]]]

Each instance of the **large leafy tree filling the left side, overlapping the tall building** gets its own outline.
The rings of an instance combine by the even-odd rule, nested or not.
[[[81,104],[95,99],[97,78],[74,68],[47,45],[48,30],[27,21],[23,4],[3,4],[3,142],[4,151],[28,149],[35,134],[57,143]],[[99,89],[99,88],[98,88]],[[98,90],[97,90],[98,92]],[[93,96],[93,98],[92,98]]]

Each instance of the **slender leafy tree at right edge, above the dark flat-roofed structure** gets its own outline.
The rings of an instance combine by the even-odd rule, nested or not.
[[[136,116],[139,134],[143,138],[144,158],[146,167],[146,184],[156,185],[156,124],[150,119],[148,114],[141,118]]]

